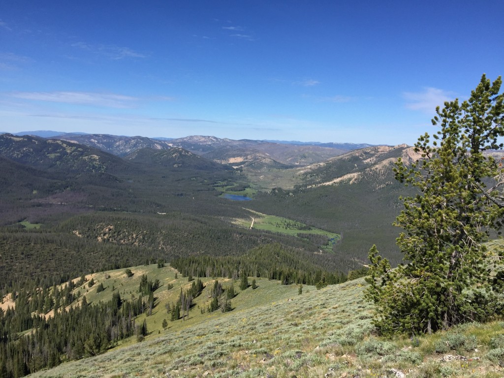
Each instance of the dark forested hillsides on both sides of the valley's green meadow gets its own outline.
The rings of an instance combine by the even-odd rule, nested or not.
[[[302,185],[260,192],[247,203],[249,209],[341,236],[333,253],[313,255],[326,241],[303,236],[302,230],[296,235],[234,225],[234,219],[254,214],[220,195],[227,190],[248,193],[254,182],[229,166],[179,148],[141,149],[123,160],[71,142],[1,137],[5,174],[0,211],[8,227],[2,237],[11,240],[5,242],[9,254],[1,262],[11,272],[4,275],[4,285],[14,282],[22,266],[28,268],[27,278],[40,279],[56,271],[58,262],[64,281],[72,274],[158,258],[238,257],[273,242],[294,248],[289,254],[306,253],[304,258],[317,269],[336,275],[362,267],[372,243],[399,262],[391,224],[403,189],[393,180],[390,164],[405,146],[371,147],[308,166],[301,172]],[[18,223],[22,221],[41,228],[28,230]],[[37,257],[21,254],[30,243],[38,245]],[[94,244],[91,256],[77,254],[79,264],[64,263],[72,261],[76,250]]]

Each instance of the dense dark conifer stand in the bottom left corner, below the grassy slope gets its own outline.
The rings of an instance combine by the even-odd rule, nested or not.
[[[118,292],[107,303],[66,308],[74,298],[72,281],[60,292],[34,287],[22,290],[16,307],[0,309],[0,376],[20,377],[61,362],[94,356],[105,352],[119,340],[147,334],[145,324],[137,325],[135,317],[148,307],[140,296],[136,301],[123,301]],[[53,316],[46,317],[47,311]],[[24,331],[29,333],[19,336]]]

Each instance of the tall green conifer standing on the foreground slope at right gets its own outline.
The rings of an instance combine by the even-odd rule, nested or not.
[[[418,194],[402,199],[395,222],[404,229],[397,244],[407,264],[392,270],[375,246],[369,252],[366,296],[383,334],[430,333],[502,312],[489,274],[502,270],[502,252],[492,255],[483,244],[504,215],[502,163],[483,154],[503,147],[500,85],[500,77],[490,83],[483,75],[469,100],[437,107],[432,144],[427,133],[415,144],[422,158],[396,164],[396,179]]]

